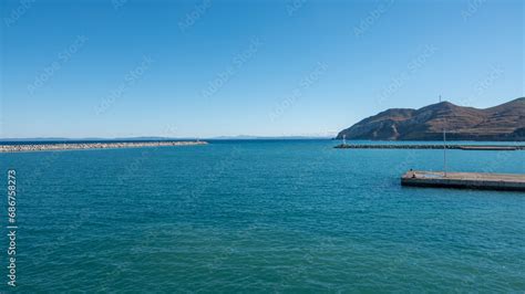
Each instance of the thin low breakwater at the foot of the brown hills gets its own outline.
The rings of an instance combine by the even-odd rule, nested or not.
[[[338,149],[457,149],[486,151],[525,150],[525,145],[440,145],[440,144],[340,144]]]

